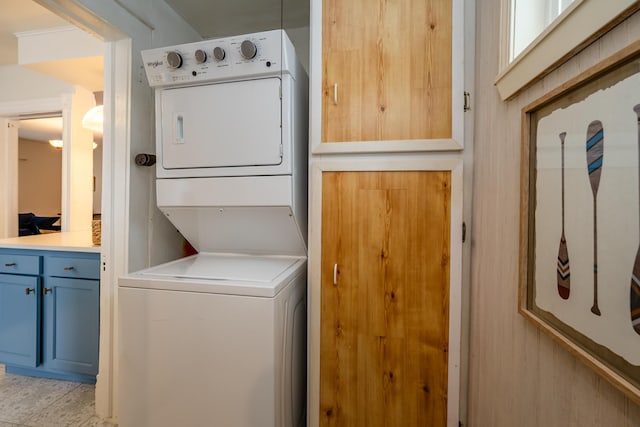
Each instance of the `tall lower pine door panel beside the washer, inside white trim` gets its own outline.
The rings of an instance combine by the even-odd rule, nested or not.
[[[450,171],[323,172],[319,425],[446,425],[450,218]]]

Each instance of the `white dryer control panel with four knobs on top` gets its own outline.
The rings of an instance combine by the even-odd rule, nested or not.
[[[149,86],[189,86],[291,74],[294,50],[283,30],[203,40],[142,52]]]

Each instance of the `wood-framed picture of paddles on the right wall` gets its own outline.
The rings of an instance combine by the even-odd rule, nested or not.
[[[520,313],[640,403],[640,42],[522,118]]]

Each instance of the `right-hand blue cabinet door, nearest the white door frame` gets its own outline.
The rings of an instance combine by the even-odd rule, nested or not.
[[[44,368],[96,375],[99,281],[47,277],[43,286]]]

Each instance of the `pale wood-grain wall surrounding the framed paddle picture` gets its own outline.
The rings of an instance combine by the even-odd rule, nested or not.
[[[640,407],[517,312],[521,110],[640,39],[640,13],[509,102],[498,74],[500,0],[477,8],[469,426],[640,425]]]

